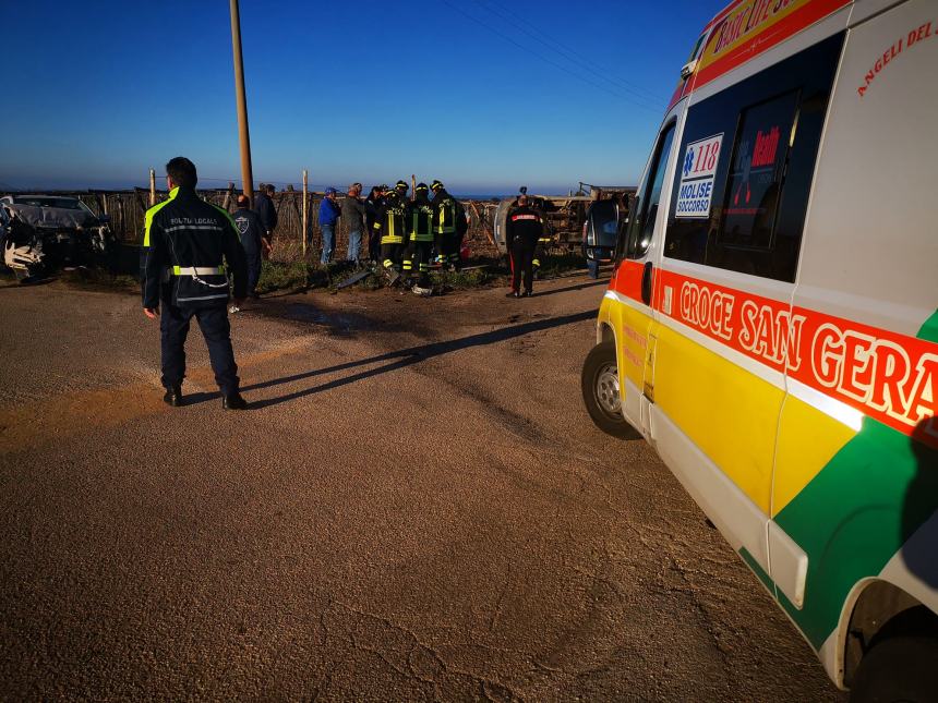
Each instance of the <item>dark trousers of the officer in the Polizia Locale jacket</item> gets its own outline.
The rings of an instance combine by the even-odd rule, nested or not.
[[[211,307],[178,307],[163,301],[159,318],[160,349],[163,352],[163,385],[166,388],[182,385],[185,377],[185,337],[192,318],[199,322],[202,336],[208,346],[208,357],[215,381],[223,395],[238,392],[238,365],[231,349],[231,325],[226,305]]]

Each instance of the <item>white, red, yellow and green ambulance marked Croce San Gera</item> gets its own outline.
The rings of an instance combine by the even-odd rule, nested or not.
[[[852,700],[938,701],[938,1],[732,2],[637,196],[590,415],[654,447]]]

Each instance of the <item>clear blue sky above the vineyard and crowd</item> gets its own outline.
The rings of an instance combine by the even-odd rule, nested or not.
[[[255,183],[634,183],[722,4],[242,0]],[[143,185],[178,154],[240,181],[226,0],[10,1],[0,32],[0,184]]]

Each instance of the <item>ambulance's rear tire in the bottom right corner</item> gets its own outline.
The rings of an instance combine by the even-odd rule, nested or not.
[[[938,639],[893,637],[861,659],[850,703],[935,701],[938,695]]]

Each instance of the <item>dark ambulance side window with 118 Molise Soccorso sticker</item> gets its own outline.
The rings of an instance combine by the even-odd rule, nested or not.
[[[793,282],[843,34],[690,108],[664,255]]]

